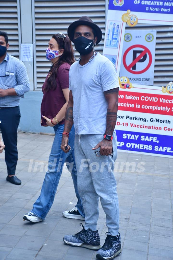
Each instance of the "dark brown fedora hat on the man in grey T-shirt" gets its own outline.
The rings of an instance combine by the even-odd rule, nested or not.
[[[89,27],[91,27],[97,36],[97,41],[96,44],[98,44],[101,39],[102,39],[102,31],[100,29],[100,27],[98,27],[98,25],[96,25],[95,23],[93,23],[93,21],[91,20],[91,18],[89,18],[88,16],[82,16],[79,18],[79,20],[71,23],[68,27],[67,33],[68,33],[68,37],[70,38],[70,40],[73,42],[73,37],[74,37],[74,30],[76,27],[78,27],[79,25],[88,25]]]

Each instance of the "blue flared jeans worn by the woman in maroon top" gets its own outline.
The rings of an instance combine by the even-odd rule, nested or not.
[[[56,125],[53,128],[55,131],[55,137],[49,156],[48,171],[46,172],[44,178],[43,186],[41,188],[41,194],[36,202],[33,204],[33,209],[31,210],[31,212],[34,213],[37,217],[45,219],[53,204],[63,166],[66,162],[67,167],[69,166],[68,170],[72,174],[74,189],[76,197],[78,199],[76,207],[80,215],[82,217],[85,217],[82,200],[79,196],[77,188],[77,172],[74,159],[74,126],[72,127],[69,136],[68,144],[70,145],[71,150],[68,153],[64,153],[61,150],[61,139],[64,131],[64,125]]]

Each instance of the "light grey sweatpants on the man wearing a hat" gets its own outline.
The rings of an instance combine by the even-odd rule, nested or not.
[[[85,212],[85,229],[96,230],[99,217],[99,197],[106,213],[106,225],[112,236],[118,235],[119,203],[116,180],[113,174],[114,161],[117,157],[117,138],[113,134],[112,156],[97,157],[92,150],[103,134],[75,135],[74,151],[77,168],[78,192]]]

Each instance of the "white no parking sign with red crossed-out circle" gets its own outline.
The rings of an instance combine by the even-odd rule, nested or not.
[[[156,30],[126,30],[120,77],[131,83],[153,85]]]

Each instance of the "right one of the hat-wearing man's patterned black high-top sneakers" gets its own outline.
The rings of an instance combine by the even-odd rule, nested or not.
[[[96,258],[101,260],[114,259],[122,251],[120,233],[118,233],[118,236],[112,236],[110,232],[106,232],[106,235],[105,243],[96,254]]]

